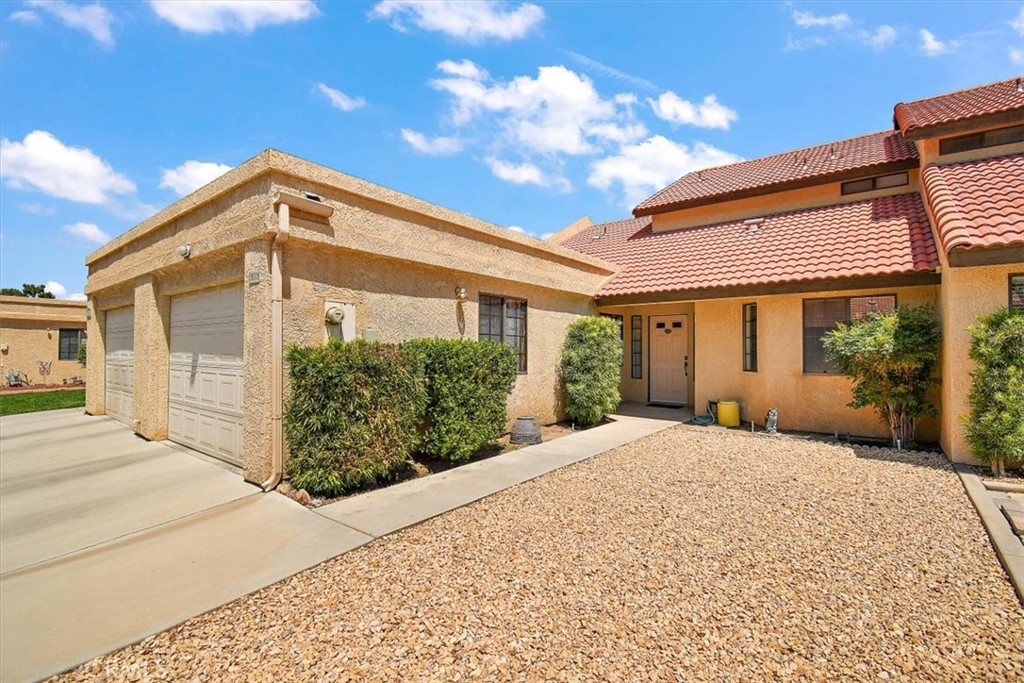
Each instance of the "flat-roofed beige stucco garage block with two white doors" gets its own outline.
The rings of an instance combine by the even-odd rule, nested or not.
[[[269,483],[284,457],[283,346],[329,335],[505,341],[519,357],[510,417],[553,422],[565,328],[594,312],[594,292],[613,272],[275,151],[86,263],[95,359],[86,410]]]

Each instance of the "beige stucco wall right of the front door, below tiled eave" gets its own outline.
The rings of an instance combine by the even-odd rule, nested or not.
[[[764,423],[768,409],[775,408],[779,412],[781,429],[888,437],[888,427],[872,410],[847,407],[851,398],[849,380],[842,376],[804,374],[803,301],[808,298],[892,293],[897,295],[899,305],[936,305],[938,287],[849,290],[693,302],[694,353],[691,359],[696,412],[702,413],[709,399],[737,400],[742,419],[753,419],[758,424]],[[744,303],[758,304],[756,373],[742,370]],[[641,307],[645,311],[647,308]],[[934,399],[938,401],[938,392]],[[919,435],[923,441],[937,440],[938,421],[923,421]]]

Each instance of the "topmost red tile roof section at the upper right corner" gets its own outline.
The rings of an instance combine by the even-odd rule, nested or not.
[[[993,114],[1021,110],[1024,123],[1024,92],[1017,90],[1020,79],[1009,79],[944,95],[900,102],[893,110],[893,123],[904,135],[934,126],[969,121]]]

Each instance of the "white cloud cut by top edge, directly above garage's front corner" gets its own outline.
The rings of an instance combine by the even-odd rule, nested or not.
[[[150,0],[157,16],[187,33],[238,31],[304,22],[319,13],[312,0]]]

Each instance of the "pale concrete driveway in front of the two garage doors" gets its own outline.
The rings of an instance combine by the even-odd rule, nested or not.
[[[368,543],[80,410],[0,419],[0,681],[34,681]]]

